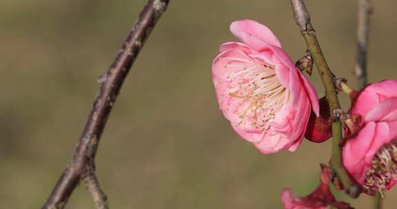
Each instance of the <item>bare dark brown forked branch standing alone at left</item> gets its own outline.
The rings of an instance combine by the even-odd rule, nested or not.
[[[136,56],[138,56],[147,36],[149,36],[161,14],[165,12],[168,2],[169,0],[147,1],[145,8],[143,8],[139,15],[138,21],[132,27],[132,31],[128,34],[128,38],[124,41],[119,54],[117,54],[114,62],[110,65],[108,72],[99,79],[101,89],[94,101],[94,107],[88,117],[88,122],[85,124],[79,144],[77,144],[72,159],[68,163],[68,166],[66,166],[57,185],[52,190],[50,197],[48,197],[42,208],[63,208],[68,202],[74,188],[84,178],[88,182],[88,190],[90,190],[94,199],[99,198],[98,203],[104,203],[104,208],[108,207],[105,200],[106,196],[99,188],[99,184],[97,184],[98,180],[93,175],[96,150],[106,120],[116,101],[125,77],[128,75],[132,63],[134,63]],[[94,182],[93,185],[91,184],[92,182]]]

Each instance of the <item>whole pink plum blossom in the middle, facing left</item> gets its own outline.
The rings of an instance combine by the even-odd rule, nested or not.
[[[262,153],[295,151],[311,109],[318,115],[316,90],[265,25],[241,20],[230,30],[241,42],[221,45],[212,64],[223,115]]]

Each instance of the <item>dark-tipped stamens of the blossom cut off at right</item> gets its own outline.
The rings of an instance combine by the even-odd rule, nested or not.
[[[397,140],[385,144],[372,159],[371,169],[365,173],[363,188],[370,194],[383,195],[390,182],[397,178]]]

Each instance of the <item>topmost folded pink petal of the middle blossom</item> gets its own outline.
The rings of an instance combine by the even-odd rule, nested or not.
[[[263,48],[262,42],[281,47],[280,41],[278,41],[273,32],[265,25],[256,21],[248,19],[234,21],[230,25],[230,31],[238,39],[256,50]]]

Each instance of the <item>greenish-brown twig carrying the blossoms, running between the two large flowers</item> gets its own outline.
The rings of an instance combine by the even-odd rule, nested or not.
[[[336,89],[334,85],[334,75],[329,70],[327,62],[325,61],[323,52],[321,51],[320,45],[317,41],[316,32],[310,23],[309,12],[305,7],[303,0],[290,0],[292,3],[292,10],[294,11],[294,18],[301,33],[305,38],[307,49],[309,50],[314,63],[316,63],[318,72],[320,73],[321,80],[323,80],[323,85],[325,87],[325,94],[329,103],[331,113],[334,110],[340,109],[340,103],[338,96],[336,94]],[[351,197],[358,197],[360,191],[358,187],[353,184],[349,175],[347,174],[343,162],[342,162],[342,148],[339,146],[340,140],[342,140],[342,123],[340,120],[332,123],[332,157],[330,163],[332,168],[340,181],[342,182],[345,191]]]

